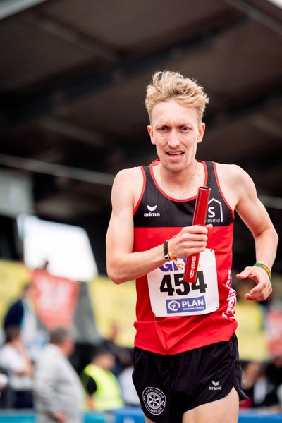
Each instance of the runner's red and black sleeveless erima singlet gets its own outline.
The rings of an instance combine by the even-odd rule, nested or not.
[[[176,200],[166,195],[154,179],[152,168],[156,164],[159,164],[159,160],[141,168],[144,182],[142,194],[134,211],[135,252],[161,245],[184,226],[192,225],[195,197]],[[202,164],[205,171],[204,185],[211,188],[206,223],[212,223],[213,228],[208,235],[207,249],[214,250],[219,308],[208,314],[195,312],[192,316],[173,316],[172,313],[166,317],[156,317],[151,307],[147,275],[137,278],[135,345],[154,353],[171,355],[211,343],[228,341],[237,327],[233,308],[236,294],[231,287],[234,213],[221,192],[216,164],[213,162],[202,162]],[[176,288],[171,281],[168,284],[168,281],[166,276],[165,284],[160,281],[157,288],[166,290],[168,298],[177,291],[183,294],[185,299],[188,287],[183,285],[184,282],[178,278]],[[197,286],[192,287],[194,288],[197,289]]]

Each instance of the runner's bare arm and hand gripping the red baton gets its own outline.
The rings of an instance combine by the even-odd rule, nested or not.
[[[107,273],[114,283],[139,278],[165,262],[163,245],[143,252],[133,252],[133,210],[135,195],[141,190],[140,168],[125,169],[114,180],[112,213],[106,235]],[[173,255],[181,258],[203,251],[207,245],[207,231],[202,226],[183,228],[171,241]]]

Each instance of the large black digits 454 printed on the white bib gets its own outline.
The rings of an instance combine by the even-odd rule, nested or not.
[[[188,295],[190,289],[200,290],[200,293],[205,293],[207,284],[204,283],[203,271],[197,272],[197,279],[195,283],[188,283],[183,281],[184,274],[164,275],[159,286],[161,293],[168,293],[172,296],[175,292],[178,295]]]

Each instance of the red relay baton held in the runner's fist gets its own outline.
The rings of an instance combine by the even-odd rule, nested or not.
[[[204,223],[206,222],[206,217],[207,217],[207,205],[209,203],[210,193],[211,193],[211,188],[209,187],[198,188],[192,225],[204,226]],[[183,276],[184,282],[190,282],[190,283],[196,282],[199,257],[200,257],[200,252],[197,252],[187,257],[184,276]]]

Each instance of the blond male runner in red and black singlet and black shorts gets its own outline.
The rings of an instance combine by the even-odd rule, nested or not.
[[[235,423],[246,398],[235,338],[231,287],[234,211],[255,238],[257,263],[240,279],[246,300],[271,293],[277,234],[240,167],[197,161],[207,95],[176,72],[147,87],[149,136],[159,159],[118,173],[106,237],[114,283],[136,279],[133,381],[146,422]],[[192,226],[197,188],[211,188],[207,225]],[[183,282],[185,257],[200,254],[196,283]]]

